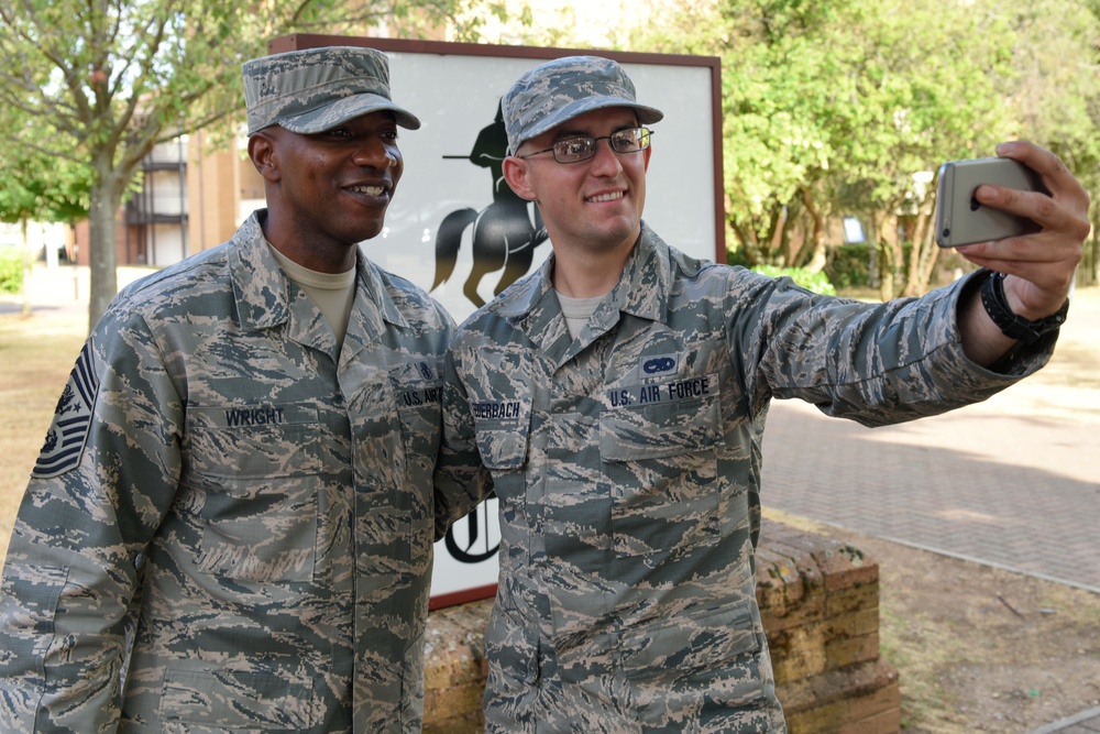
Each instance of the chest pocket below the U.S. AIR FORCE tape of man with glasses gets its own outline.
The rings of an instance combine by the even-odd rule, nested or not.
[[[653,387],[678,395],[675,385]],[[717,540],[724,445],[716,388],[601,415],[600,453],[616,555],[675,557]]]

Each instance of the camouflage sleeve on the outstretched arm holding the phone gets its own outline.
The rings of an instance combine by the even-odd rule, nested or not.
[[[970,278],[923,298],[866,304],[816,296],[789,278],[730,271],[727,335],[751,409],[800,398],[866,426],[978,403],[1038,371],[1057,335],[1013,352],[998,371],[971,362],[957,310]],[[736,359],[739,358],[739,359]]]

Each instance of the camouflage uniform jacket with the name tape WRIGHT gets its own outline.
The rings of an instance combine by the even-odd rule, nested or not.
[[[361,253],[338,353],[263,216],[77,360],[8,551],[0,731],[420,731],[450,317]]]

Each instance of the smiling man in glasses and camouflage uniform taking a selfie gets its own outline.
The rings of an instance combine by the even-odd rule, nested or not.
[[[457,330],[437,471],[443,525],[501,502],[487,731],[782,732],[755,594],[769,402],[932,415],[1040,369],[1056,332],[1001,335],[976,298],[987,271],[869,305],[678,252],[640,220],[637,128],[661,114],[613,62],[537,67],[504,113],[505,174],[553,255]],[[1002,243],[970,256],[1014,272],[1005,289],[1042,282],[1013,291],[1035,318],[1066,300],[1087,197],[1049,153],[1008,150],[1054,193],[1046,235],[1016,241],[1030,265]]]

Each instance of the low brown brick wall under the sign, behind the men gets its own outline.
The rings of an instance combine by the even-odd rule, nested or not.
[[[857,548],[765,521],[757,600],[790,734],[897,734],[898,672],[879,657],[879,567]],[[425,733],[482,731],[493,600],[433,612]]]

